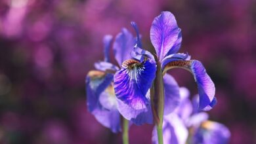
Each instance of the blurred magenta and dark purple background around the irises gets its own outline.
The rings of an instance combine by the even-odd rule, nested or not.
[[[211,120],[230,143],[256,143],[256,2],[253,0],[1,0],[0,143],[121,143],[87,111],[85,75],[103,60],[102,37],[137,22],[151,48],[150,26],[175,14],[182,47],[216,86]],[[135,35],[135,33],[134,33]],[[114,59],[113,59],[114,60]],[[190,73],[170,72],[196,94]],[[131,126],[131,143],[151,143],[152,126]]]

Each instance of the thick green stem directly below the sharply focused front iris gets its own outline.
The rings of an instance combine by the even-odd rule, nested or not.
[[[155,81],[156,97],[158,98],[158,118],[156,127],[158,131],[158,144],[163,144],[163,108],[164,108],[164,89],[163,75],[161,71],[161,63],[157,63],[156,81]]]

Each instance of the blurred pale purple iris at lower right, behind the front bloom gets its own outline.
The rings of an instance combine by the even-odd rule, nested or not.
[[[197,106],[198,96],[191,103],[188,90],[181,88],[181,104],[173,113],[163,118],[164,143],[228,143],[230,138],[228,128],[208,120],[207,113],[198,111]],[[158,143],[156,128],[153,130],[152,141]]]

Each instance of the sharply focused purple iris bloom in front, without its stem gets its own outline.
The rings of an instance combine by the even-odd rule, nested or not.
[[[121,69],[114,75],[117,109],[121,115],[135,124],[152,123],[150,88],[159,68],[163,77],[165,114],[179,105],[177,82],[166,74],[167,70],[176,67],[186,69],[194,76],[200,96],[198,109],[211,109],[216,103],[215,86],[201,62],[190,60],[188,54],[177,53],[182,37],[175,16],[171,12],[161,12],[154,19],[150,39],[156,50],[155,56],[142,49],[138,28],[134,22],[132,25],[137,32],[137,45],[131,52],[133,59],[123,62]]]

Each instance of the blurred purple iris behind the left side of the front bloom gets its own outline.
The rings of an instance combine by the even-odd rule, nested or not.
[[[117,110],[117,99],[114,93],[114,73],[119,69],[110,63],[110,47],[112,36],[104,37],[104,61],[95,63],[97,70],[89,71],[86,77],[87,107],[103,126],[112,132],[120,132],[120,114]],[[117,63],[131,58],[135,38],[127,29],[123,28],[114,41],[114,53]]]

